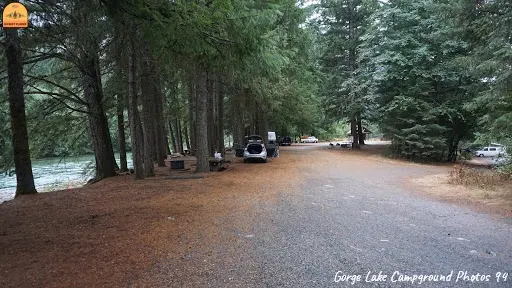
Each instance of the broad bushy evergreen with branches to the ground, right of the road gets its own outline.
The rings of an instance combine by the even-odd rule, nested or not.
[[[449,1],[392,1],[372,17],[362,74],[371,79],[382,131],[394,151],[417,159],[455,160],[459,142],[475,126],[467,107],[478,80],[457,60],[469,51]]]

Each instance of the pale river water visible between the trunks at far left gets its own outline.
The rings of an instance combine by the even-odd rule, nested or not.
[[[115,154],[120,165],[119,154]],[[127,153],[128,168],[133,168],[132,155]],[[94,155],[32,160],[37,192],[49,192],[83,186],[94,177]],[[14,198],[16,175],[0,175],[0,203]]]

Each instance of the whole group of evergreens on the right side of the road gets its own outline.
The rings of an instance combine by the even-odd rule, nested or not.
[[[512,143],[512,2],[322,0],[315,9],[320,94],[353,135],[361,119],[377,123],[396,155],[435,161],[455,161],[475,141]]]

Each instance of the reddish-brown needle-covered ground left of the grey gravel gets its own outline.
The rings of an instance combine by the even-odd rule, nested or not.
[[[158,169],[142,181],[118,176],[5,202],[0,287],[164,285],[152,277],[164,259],[192,252],[214,258],[215,243],[247,248],[229,231],[250,234],[250,220],[261,213],[256,207],[296,182],[296,158],[282,155],[266,164],[236,159],[230,171],[203,179],[167,179],[168,168]],[[194,275],[193,265],[183,265],[183,273]]]

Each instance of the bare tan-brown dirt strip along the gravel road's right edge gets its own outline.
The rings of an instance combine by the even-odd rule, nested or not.
[[[404,178],[402,183],[410,188],[408,189],[410,191],[470,207],[479,212],[512,217],[512,181],[504,180],[492,170],[480,166],[464,165],[465,168],[461,174],[460,169],[457,168],[461,166],[453,163],[422,164],[388,158],[384,156],[387,147],[387,145],[365,145],[361,150],[351,151],[328,147],[326,149],[339,157],[350,159],[350,165],[357,165],[355,168],[351,166],[351,170],[363,165],[361,159],[370,160],[364,161],[365,169],[371,167],[369,163],[373,162],[374,165],[400,165],[425,170],[425,175],[420,177],[396,176]],[[422,167],[425,169],[421,169]]]

